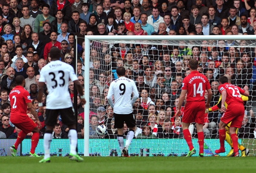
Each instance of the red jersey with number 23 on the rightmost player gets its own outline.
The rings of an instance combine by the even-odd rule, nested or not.
[[[241,89],[239,86],[235,86],[232,84],[222,84],[218,87],[220,93],[224,90],[227,92],[226,102],[227,105],[241,103],[244,104],[243,99],[241,98],[241,94],[244,94],[244,89]]]

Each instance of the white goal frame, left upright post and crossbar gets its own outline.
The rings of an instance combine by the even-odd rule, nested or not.
[[[87,101],[84,105],[84,156],[89,156],[89,114],[90,114],[90,42],[100,41],[108,44],[131,43],[151,45],[172,45],[179,46],[183,40],[183,46],[202,46],[202,41],[207,40],[207,46],[218,46],[218,40],[246,40],[245,48],[256,47],[256,35],[89,35],[84,37],[84,94]],[[117,142],[117,141],[116,141]]]

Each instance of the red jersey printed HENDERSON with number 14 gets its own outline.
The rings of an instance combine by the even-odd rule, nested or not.
[[[187,101],[204,101],[205,90],[211,89],[211,86],[205,75],[192,71],[184,78],[182,89],[187,90]]]

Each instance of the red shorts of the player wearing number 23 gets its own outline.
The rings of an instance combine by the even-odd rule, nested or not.
[[[227,107],[227,112],[224,112],[221,116],[221,121],[225,124],[229,124],[230,127],[240,128],[244,118],[244,105],[243,104],[231,104]]]

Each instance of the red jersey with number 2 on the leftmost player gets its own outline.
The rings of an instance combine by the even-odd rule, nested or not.
[[[27,103],[31,102],[29,92],[22,86],[16,86],[10,92],[11,102],[11,122],[22,123],[25,118],[28,117]]]

